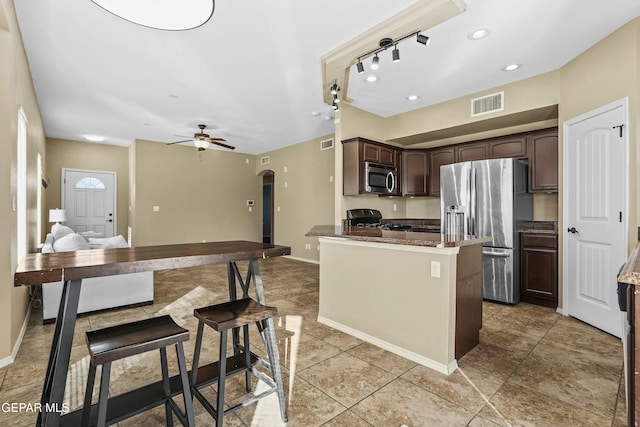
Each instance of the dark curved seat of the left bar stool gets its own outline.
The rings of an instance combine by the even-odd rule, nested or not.
[[[189,340],[189,331],[171,316],[150,319],[87,332],[87,346],[97,365]]]

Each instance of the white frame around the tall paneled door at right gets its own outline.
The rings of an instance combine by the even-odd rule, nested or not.
[[[584,120],[588,120],[592,117],[598,116],[600,114],[603,114],[607,111],[613,110],[615,108],[622,108],[623,111],[623,115],[624,115],[624,127],[622,128],[622,137],[623,137],[623,144],[624,144],[624,155],[625,155],[625,162],[623,164],[622,167],[624,167],[624,189],[623,189],[623,194],[624,194],[624,201],[623,201],[623,223],[624,223],[624,236],[623,236],[623,246],[625,248],[625,252],[627,252],[627,254],[629,253],[629,182],[630,182],[630,176],[629,176],[629,171],[631,170],[629,165],[630,165],[630,156],[629,156],[629,127],[630,127],[630,121],[629,121],[629,97],[624,97],[621,99],[618,99],[616,101],[613,101],[609,104],[603,105],[601,107],[598,107],[596,109],[593,109],[591,111],[588,111],[586,113],[580,114],[579,116],[573,117],[569,120],[566,120],[563,125],[562,125],[562,138],[563,138],[563,143],[562,143],[562,224],[559,230],[559,235],[560,235],[560,239],[562,240],[562,311],[561,313],[565,316],[569,316],[569,291],[568,291],[568,287],[569,287],[569,278],[568,276],[568,272],[569,272],[569,268],[567,267],[566,263],[567,263],[567,254],[569,253],[569,240],[565,238],[565,234],[564,234],[564,224],[567,224],[569,221],[568,218],[568,209],[565,209],[565,206],[568,206],[568,194],[569,192],[567,191],[569,189],[569,178],[568,178],[568,174],[566,173],[566,171],[568,170],[568,166],[567,166],[567,162],[568,162],[568,150],[569,150],[569,144],[566,144],[564,142],[564,140],[567,138],[568,134],[569,134],[569,126],[576,124],[578,122],[584,121]]]

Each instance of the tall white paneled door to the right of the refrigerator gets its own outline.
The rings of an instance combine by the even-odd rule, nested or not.
[[[564,306],[617,337],[627,257],[627,100],[564,125]]]

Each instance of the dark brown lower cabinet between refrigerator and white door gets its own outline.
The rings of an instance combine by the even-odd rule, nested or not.
[[[558,307],[558,236],[521,233],[520,243],[521,300]]]

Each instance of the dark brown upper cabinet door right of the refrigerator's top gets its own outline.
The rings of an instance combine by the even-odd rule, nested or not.
[[[530,135],[530,191],[558,191],[558,132]]]

